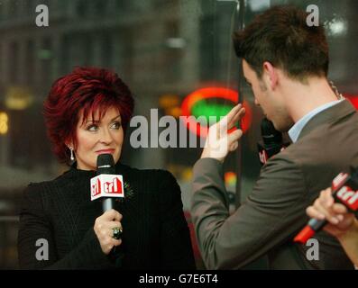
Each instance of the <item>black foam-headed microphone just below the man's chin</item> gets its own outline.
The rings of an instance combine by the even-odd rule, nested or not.
[[[282,133],[276,130],[273,123],[267,118],[262,119],[261,132],[262,141],[257,143],[257,148],[259,150],[260,163],[263,166],[272,156],[288,147],[289,143],[283,143]]]

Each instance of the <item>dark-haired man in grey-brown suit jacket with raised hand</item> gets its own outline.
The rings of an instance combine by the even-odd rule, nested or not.
[[[243,76],[255,103],[293,144],[262,167],[252,193],[232,215],[223,162],[237,148],[240,104],[213,125],[194,166],[191,216],[207,268],[237,269],[268,255],[271,269],[350,269],[337,240],[316,234],[318,257],[292,239],[305,226],[306,208],[340,172],[358,164],[358,114],[327,80],[328,45],[308,14],[273,7],[234,36]],[[224,128],[223,128],[224,127]],[[244,167],[243,167],[244,168]]]

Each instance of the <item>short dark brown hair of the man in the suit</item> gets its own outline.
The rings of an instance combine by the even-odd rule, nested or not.
[[[292,5],[272,7],[234,33],[237,57],[244,58],[259,77],[264,61],[302,82],[307,76],[327,76],[325,29],[308,26],[307,18],[308,13]]]

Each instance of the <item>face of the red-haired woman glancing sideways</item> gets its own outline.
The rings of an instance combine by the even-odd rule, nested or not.
[[[108,108],[101,121],[98,114],[95,113],[93,121],[89,113],[83,122],[83,112],[80,113],[76,130],[78,147],[75,150],[78,169],[96,170],[96,159],[100,154],[112,154],[115,163],[121,156],[124,130],[118,109]]]

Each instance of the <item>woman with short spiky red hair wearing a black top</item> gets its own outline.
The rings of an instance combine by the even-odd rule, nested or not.
[[[175,178],[120,162],[132,114],[130,90],[106,69],[78,67],[52,85],[44,117],[55,155],[70,168],[23,193],[21,268],[195,268]],[[124,201],[106,212],[90,200],[100,154],[113,156],[115,173],[126,184]],[[123,231],[121,238],[117,231]]]

